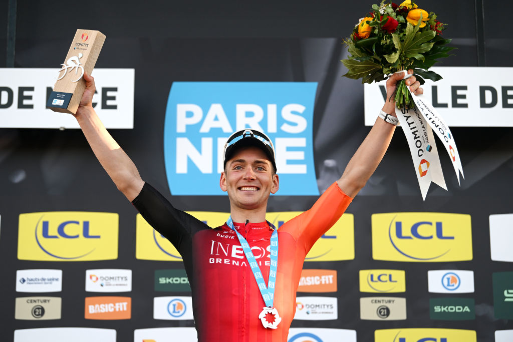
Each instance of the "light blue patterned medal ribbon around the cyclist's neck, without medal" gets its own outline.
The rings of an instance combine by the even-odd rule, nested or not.
[[[242,236],[241,233],[239,233],[235,229],[235,226],[233,225],[233,220],[231,219],[231,215],[230,217],[228,217],[226,224],[228,225],[228,227],[230,227],[231,230],[233,230],[237,234],[239,242],[242,246],[242,250],[244,251],[244,255],[246,255],[246,259],[248,260],[249,267],[251,267],[251,271],[253,272],[255,280],[257,280],[257,284],[260,289],[260,293],[264,298],[265,305],[268,308],[272,308],[272,303],[274,301],[274,286],[276,284],[276,271],[278,269],[278,230],[269,221],[267,221],[267,224],[274,231],[271,234],[271,265],[269,268],[268,286],[266,286],[264,277],[262,275],[262,272],[260,271],[260,267],[258,266],[257,259],[255,259],[253,252],[251,251],[251,248],[249,247],[249,244],[244,238],[244,236]]]

